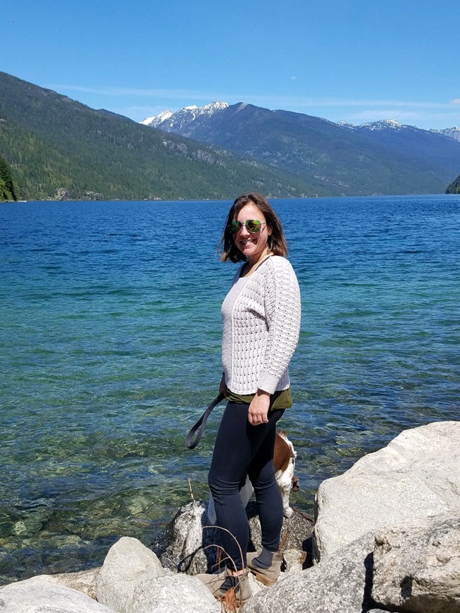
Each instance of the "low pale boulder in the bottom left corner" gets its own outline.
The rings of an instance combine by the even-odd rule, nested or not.
[[[45,577],[45,578],[43,578]],[[0,588],[5,613],[115,613],[89,596],[38,576]]]

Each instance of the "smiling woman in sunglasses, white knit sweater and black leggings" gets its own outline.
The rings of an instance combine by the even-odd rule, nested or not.
[[[217,433],[209,487],[228,558],[219,575],[199,575],[219,599],[234,588],[251,597],[248,569],[264,583],[280,574],[282,498],[275,481],[275,424],[292,406],[287,366],[299,338],[299,285],[287,261],[282,226],[260,194],[238,197],[221,240],[223,262],[244,262],[222,304],[220,391],[228,404]],[[262,551],[247,554],[249,528],[240,489],[251,479]]]

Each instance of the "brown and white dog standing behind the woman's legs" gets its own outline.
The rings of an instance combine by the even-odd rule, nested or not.
[[[292,517],[294,511],[289,506],[289,495],[291,491],[299,490],[299,479],[294,474],[296,463],[297,451],[294,450],[289,438],[287,438],[284,430],[280,430],[275,436],[275,450],[273,452],[273,464],[275,465],[275,479],[280,489],[282,498],[283,515],[285,518]],[[246,483],[240,490],[241,501],[243,505],[249,502],[249,499],[253,495],[253,485],[249,481],[249,477],[246,477]],[[207,505],[207,518],[211,525],[216,523],[216,511],[214,509],[214,499],[212,494],[209,494],[209,503]]]

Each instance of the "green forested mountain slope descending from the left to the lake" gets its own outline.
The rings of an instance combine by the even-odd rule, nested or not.
[[[25,199],[231,199],[314,194],[287,171],[94,110],[0,72],[0,156]]]

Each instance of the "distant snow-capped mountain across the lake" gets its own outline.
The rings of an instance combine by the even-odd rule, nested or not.
[[[251,156],[330,195],[441,193],[460,143],[395,121],[353,126],[246,103],[185,107],[158,129]]]

